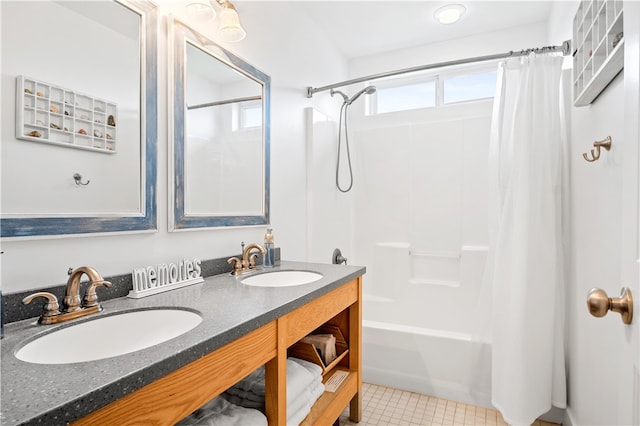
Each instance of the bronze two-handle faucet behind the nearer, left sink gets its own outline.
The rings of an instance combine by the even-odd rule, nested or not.
[[[29,304],[37,297],[44,297],[47,303],[44,305],[44,312],[40,316],[38,323],[40,324],[56,324],[63,321],[69,321],[74,318],[83,317],[85,315],[94,314],[102,310],[102,306],[98,303],[96,288],[111,287],[111,282],[102,279],[98,272],[90,266],[81,266],[76,269],[69,268],[67,272],[69,279],[67,280],[67,288],[62,301],[63,309],[60,311],[58,299],[54,294],[46,291],[33,293],[24,299],[22,303]],[[80,278],[83,274],[89,277],[89,287],[85,295],[80,301]]]

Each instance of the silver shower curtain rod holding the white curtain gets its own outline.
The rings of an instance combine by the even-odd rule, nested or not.
[[[380,74],[373,74],[373,75],[368,75],[366,77],[360,77],[360,78],[354,78],[352,80],[341,81],[339,83],[330,84],[328,86],[322,86],[322,87],[309,86],[307,87],[307,98],[311,98],[313,94],[317,92],[322,92],[329,89],[335,89],[336,87],[348,86],[350,84],[362,83],[363,81],[377,80],[379,78],[393,77],[400,74],[408,74],[416,71],[425,71],[433,68],[443,68],[443,67],[449,67],[453,65],[469,64],[472,62],[483,62],[483,61],[491,61],[495,59],[525,56],[525,55],[528,55],[529,53],[548,53],[548,52],[562,52],[564,56],[567,56],[571,53],[571,41],[565,40],[560,46],[537,47],[533,49],[524,49],[520,51],[512,50],[507,53],[498,53],[495,55],[487,55],[487,56],[476,56],[474,58],[457,59],[455,61],[439,62],[437,64],[420,65],[413,68],[404,68],[396,71],[387,71]]]

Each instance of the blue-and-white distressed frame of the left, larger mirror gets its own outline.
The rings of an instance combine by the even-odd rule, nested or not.
[[[140,15],[140,126],[144,134],[144,141],[140,141],[143,153],[140,176],[144,178],[141,182],[144,211],[132,216],[0,218],[2,238],[141,232],[157,229],[158,13],[155,4],[145,0],[118,0],[117,3]]]

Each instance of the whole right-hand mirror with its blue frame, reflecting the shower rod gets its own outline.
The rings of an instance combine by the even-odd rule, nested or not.
[[[178,20],[169,37],[169,229],[267,224],[269,76]]]

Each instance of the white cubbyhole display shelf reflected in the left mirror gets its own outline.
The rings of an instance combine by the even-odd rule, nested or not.
[[[115,103],[25,76],[16,80],[16,138],[115,154]]]

